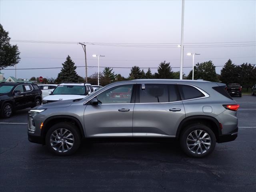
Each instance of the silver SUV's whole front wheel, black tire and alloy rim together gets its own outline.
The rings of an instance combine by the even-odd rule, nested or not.
[[[60,134],[61,132],[63,134],[62,136]],[[45,142],[48,150],[54,154],[59,156],[68,156],[78,150],[81,144],[81,135],[75,125],[67,122],[61,122],[53,125],[48,130]]]

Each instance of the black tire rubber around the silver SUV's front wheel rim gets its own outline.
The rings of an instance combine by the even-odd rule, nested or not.
[[[52,132],[54,132],[55,130],[60,129],[60,128],[65,128],[65,129],[69,130],[74,135],[74,145],[72,146],[72,148],[69,151],[63,152],[63,153],[60,153],[60,152],[57,152],[56,150],[54,150],[50,144],[50,136],[51,136]],[[48,132],[46,133],[45,143],[46,143],[47,148],[54,154],[57,154],[59,156],[68,156],[68,155],[71,155],[74,152],[76,152],[76,150],[78,150],[78,148],[81,144],[81,135],[78,131],[78,128],[75,125],[73,125],[71,123],[67,123],[67,122],[61,122],[61,123],[57,123],[57,124],[53,125],[48,130]]]

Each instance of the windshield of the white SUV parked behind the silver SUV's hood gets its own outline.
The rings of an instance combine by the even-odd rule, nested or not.
[[[59,85],[52,92],[53,95],[86,95],[84,86]]]

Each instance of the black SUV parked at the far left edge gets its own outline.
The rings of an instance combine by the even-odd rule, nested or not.
[[[0,83],[0,116],[9,118],[15,110],[35,107],[42,102],[42,92],[36,84]]]

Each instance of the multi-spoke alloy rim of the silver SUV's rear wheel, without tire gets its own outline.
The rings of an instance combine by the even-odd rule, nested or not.
[[[194,154],[204,154],[210,149],[211,138],[204,130],[194,130],[186,139],[188,150]]]

